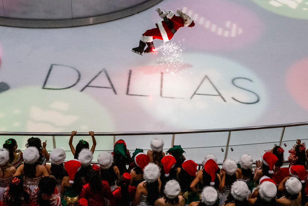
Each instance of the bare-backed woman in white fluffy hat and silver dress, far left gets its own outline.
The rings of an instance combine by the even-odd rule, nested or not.
[[[28,147],[23,152],[24,164],[20,165],[14,176],[24,175],[24,185],[29,186],[33,203],[37,202],[37,188],[43,176],[49,176],[45,166],[39,164],[39,150],[36,147]]]

